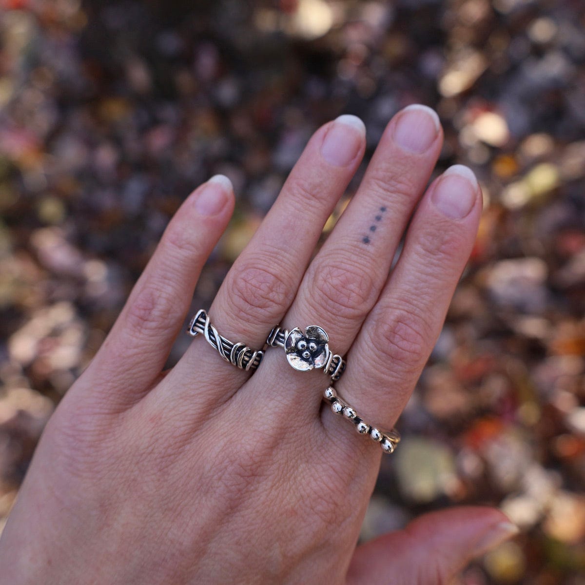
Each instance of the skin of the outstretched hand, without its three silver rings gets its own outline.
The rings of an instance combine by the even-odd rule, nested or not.
[[[353,116],[315,133],[209,315],[250,347],[278,323],[322,326],[347,356],[339,395],[390,429],[441,330],[481,193],[460,166],[424,192],[442,132],[411,106],[311,260],[364,136]],[[324,373],[295,371],[270,347],[250,374],[201,336],[161,374],[233,205],[216,177],[168,225],[47,425],[0,541],[0,583],[426,585],[513,534],[496,510],[459,508],[356,550],[381,449],[322,406]]]

